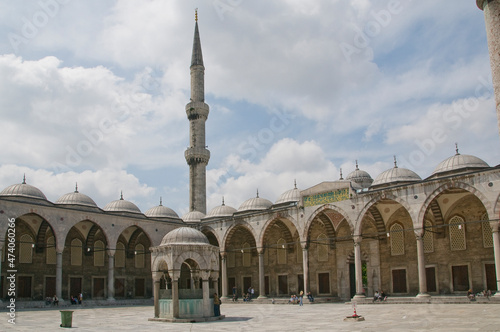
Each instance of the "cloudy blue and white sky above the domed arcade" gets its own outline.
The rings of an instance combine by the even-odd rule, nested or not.
[[[188,212],[198,8],[207,209],[455,153],[500,163],[473,0],[0,0],[0,187]]]

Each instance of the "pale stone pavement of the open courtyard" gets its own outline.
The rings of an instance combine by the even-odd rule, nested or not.
[[[151,322],[152,306],[74,308],[75,331],[500,331],[498,304],[358,305],[363,322],[344,322],[353,314],[343,303],[223,303],[226,319],[208,323]],[[64,331],[58,309],[20,309],[16,324],[0,312],[0,331]]]

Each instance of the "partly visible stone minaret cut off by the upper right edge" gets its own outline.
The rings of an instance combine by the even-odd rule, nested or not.
[[[495,91],[498,130],[500,132],[500,0],[476,0],[476,4],[479,9],[484,11],[493,89]]]

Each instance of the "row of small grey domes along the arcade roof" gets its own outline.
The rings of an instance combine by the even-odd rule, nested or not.
[[[461,155],[458,153],[457,149],[456,154],[442,161],[435,168],[434,172],[429,178],[439,178],[461,173],[464,171],[480,170],[489,167],[490,166],[482,159],[471,155]],[[342,178],[342,175],[340,177],[340,180],[344,180]],[[345,181],[349,181],[351,183],[351,186],[357,190],[374,190],[398,184],[410,184],[421,180],[422,178],[415,172],[406,168],[399,168],[397,166],[396,160],[394,160],[393,168],[382,172],[375,178],[375,180],[372,179],[370,174],[363,170],[360,170],[357,162],[356,169],[345,178]],[[5,188],[2,192],[0,192],[0,197],[1,196],[19,196],[47,200],[41,190],[34,186],[26,184],[25,178],[23,178],[23,182],[21,184],[14,184]],[[299,200],[300,190],[297,189],[297,186],[295,185],[293,189],[284,192],[274,204],[298,202]],[[97,204],[92,198],[78,191],[78,187],[75,188],[74,192],[61,196],[55,202],[55,204],[98,208]],[[256,197],[246,200],[240,205],[238,209],[225,205],[223,200],[222,205],[213,208],[206,215],[199,211],[191,211],[183,215],[181,219],[186,223],[193,223],[199,222],[201,219],[206,218],[232,216],[236,212],[266,210],[272,205],[273,203],[271,201],[259,197],[259,193],[257,192]],[[123,194],[121,195],[120,199],[108,203],[103,208],[103,210],[108,212],[128,212],[142,214],[141,210],[134,203],[123,199]],[[160,205],[150,208],[144,213],[144,215],[151,218],[179,219],[179,216],[174,210],[163,206],[161,199]]]

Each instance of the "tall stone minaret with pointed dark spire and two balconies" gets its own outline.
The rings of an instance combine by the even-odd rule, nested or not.
[[[207,213],[206,167],[210,151],[205,144],[205,121],[209,108],[205,104],[205,67],[201,54],[198,12],[195,14],[193,55],[191,57],[191,102],[186,105],[189,119],[189,147],[184,156],[189,165],[189,211]]]

